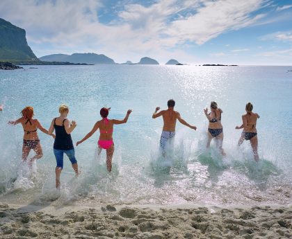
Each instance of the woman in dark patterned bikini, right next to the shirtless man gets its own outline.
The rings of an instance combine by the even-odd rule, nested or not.
[[[211,112],[208,114],[208,108],[204,109],[206,118],[209,120],[208,126],[208,142],[206,147],[210,147],[210,143],[212,139],[216,140],[216,145],[219,148],[221,154],[225,156],[225,151],[222,148],[223,144],[223,126],[221,124],[221,114],[222,109],[218,108],[217,103],[215,101],[211,102]]]

